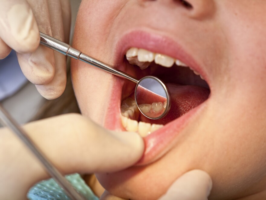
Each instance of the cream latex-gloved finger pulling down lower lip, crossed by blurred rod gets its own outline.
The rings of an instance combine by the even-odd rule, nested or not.
[[[112,132],[78,114],[31,122],[23,127],[63,173],[115,172],[136,163],[144,151],[134,132]],[[23,199],[49,178],[40,162],[7,128],[0,129],[0,199]]]

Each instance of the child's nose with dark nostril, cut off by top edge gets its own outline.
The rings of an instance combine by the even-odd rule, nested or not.
[[[215,11],[215,0],[138,0],[142,4],[157,2],[171,8],[179,7],[190,18],[208,18]]]

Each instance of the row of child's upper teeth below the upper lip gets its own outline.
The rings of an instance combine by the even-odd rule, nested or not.
[[[164,67],[172,67],[174,63],[178,66],[182,67],[188,67],[186,64],[181,62],[178,59],[172,58],[168,55],[160,54],[160,53],[154,53],[150,52],[145,49],[138,49],[135,47],[132,47],[128,49],[126,53],[126,58],[128,62],[132,65],[138,65],[141,69],[146,69],[150,66],[151,62],[155,62],[158,65],[164,66]],[[196,75],[200,75],[199,72],[191,69]],[[200,78],[203,79],[203,77],[200,75]]]

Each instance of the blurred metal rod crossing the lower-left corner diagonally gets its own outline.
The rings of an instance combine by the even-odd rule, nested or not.
[[[54,165],[49,161],[49,159],[41,152],[41,150],[34,144],[31,138],[28,137],[27,133],[18,125],[17,122],[8,114],[8,112],[0,104],[0,122],[2,125],[6,125],[10,128],[31,150],[31,152],[39,159],[39,161],[44,165],[47,172],[54,178],[58,185],[63,188],[66,194],[73,200],[85,200],[85,198],[80,195],[66,180],[66,178],[54,167]]]

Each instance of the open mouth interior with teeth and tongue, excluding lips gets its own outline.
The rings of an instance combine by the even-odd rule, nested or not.
[[[209,86],[203,76],[179,59],[133,47],[127,50],[124,62],[132,67],[131,70],[138,79],[147,75],[156,76],[166,83],[170,91],[172,105],[169,113],[162,119],[152,120],[139,112],[134,99],[134,86],[128,83],[124,85],[122,125],[127,131],[138,132],[141,137],[146,137],[185,115],[209,97]],[[140,106],[146,112],[160,112],[164,105],[154,102]]]

